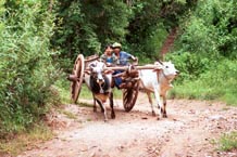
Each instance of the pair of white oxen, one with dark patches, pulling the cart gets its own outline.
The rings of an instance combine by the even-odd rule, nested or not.
[[[151,66],[151,65],[145,65]],[[138,69],[139,88],[146,92],[151,105],[152,116],[155,116],[151,94],[154,94],[155,103],[158,104],[159,115],[158,118],[166,118],[166,94],[173,88],[172,80],[179,74],[172,62],[155,62],[154,69]],[[101,106],[104,114],[104,121],[108,120],[107,108],[104,102],[110,99],[111,118],[115,118],[113,109],[113,93],[111,89],[112,73],[107,68],[103,62],[95,61],[88,65],[85,70],[84,80],[93,95],[93,110],[96,112],[96,102]],[[104,88],[107,87],[107,88]],[[97,89],[100,88],[100,89]]]

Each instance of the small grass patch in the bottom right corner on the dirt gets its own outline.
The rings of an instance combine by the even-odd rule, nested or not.
[[[237,131],[223,134],[220,139],[219,149],[224,152],[237,149]]]

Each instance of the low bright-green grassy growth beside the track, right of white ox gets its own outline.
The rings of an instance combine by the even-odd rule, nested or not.
[[[208,61],[209,68],[195,79],[189,79],[191,76],[184,78],[188,76],[186,71],[183,76],[180,74],[183,78],[175,82],[171,95],[173,97],[221,100],[227,104],[237,105],[237,61],[226,58],[220,58],[219,62],[213,63],[211,60]]]

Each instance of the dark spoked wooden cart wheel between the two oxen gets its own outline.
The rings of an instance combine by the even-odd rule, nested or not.
[[[123,105],[125,112],[130,112],[137,101],[139,90],[139,80],[135,81],[133,87],[123,90]]]

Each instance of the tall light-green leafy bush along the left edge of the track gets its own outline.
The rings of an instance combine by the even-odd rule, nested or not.
[[[0,135],[26,129],[52,102],[59,76],[49,47],[53,16],[38,1],[0,6]],[[57,96],[54,96],[57,97]]]

